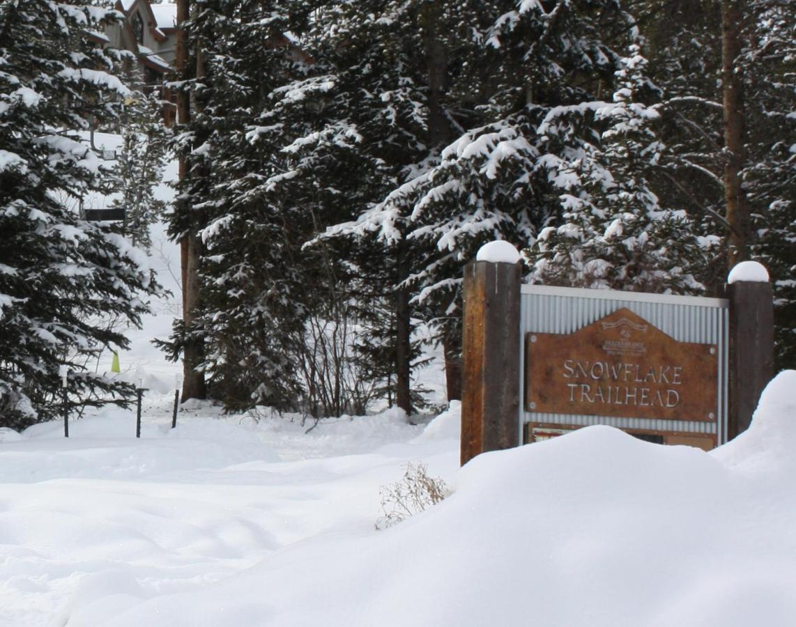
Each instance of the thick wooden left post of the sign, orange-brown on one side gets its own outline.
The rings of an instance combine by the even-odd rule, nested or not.
[[[465,268],[462,465],[520,444],[520,280],[519,263]]]

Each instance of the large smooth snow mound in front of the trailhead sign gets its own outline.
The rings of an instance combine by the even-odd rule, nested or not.
[[[736,457],[778,464],[777,447],[751,445],[790,438],[773,415],[793,416],[787,387],[767,390]],[[308,539],[101,624],[791,627],[796,475],[772,483],[728,457],[606,426],[482,454],[395,528]],[[77,608],[69,624],[90,622]]]

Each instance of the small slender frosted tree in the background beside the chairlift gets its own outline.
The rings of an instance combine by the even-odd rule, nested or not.
[[[119,120],[122,147],[116,158],[115,191],[111,207],[125,210],[124,232],[134,246],[149,251],[150,225],[160,220],[166,203],[155,197],[166,167],[167,130],[163,126],[163,103],[158,91],[135,91],[124,99]]]

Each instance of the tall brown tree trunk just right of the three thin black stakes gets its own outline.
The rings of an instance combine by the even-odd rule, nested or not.
[[[181,25],[189,16],[189,0],[177,0],[177,41],[175,65],[180,80],[188,78],[188,37],[185,29]],[[185,89],[180,89],[177,93],[177,123],[184,125],[190,122],[190,95]],[[188,158],[185,154],[180,155],[179,177],[180,181],[185,181],[190,176]],[[178,211],[186,215],[190,211],[187,200],[181,200]],[[199,304],[199,276],[198,263],[200,256],[201,242],[198,240],[193,228],[183,236],[180,241],[180,271],[182,278],[182,321],[185,330],[190,326],[195,317],[195,310]],[[205,387],[205,376],[198,372],[196,367],[201,362],[202,344],[201,341],[189,341],[185,343],[182,356],[182,400],[204,399],[207,391]]]

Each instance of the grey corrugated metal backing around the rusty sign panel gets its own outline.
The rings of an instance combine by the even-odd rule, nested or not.
[[[529,332],[574,333],[626,307],[674,340],[716,345],[719,364],[716,385],[719,394],[715,422],[547,414],[525,411],[525,403],[520,403],[520,428],[532,422],[574,426],[603,424],[620,429],[712,434],[716,436],[717,444],[723,444],[727,441],[728,306],[728,301],[722,298],[522,286],[521,337]],[[521,364],[524,364],[524,341],[521,347]],[[525,368],[521,368],[521,372],[525,372]],[[524,384],[525,381],[521,381],[521,389]]]

